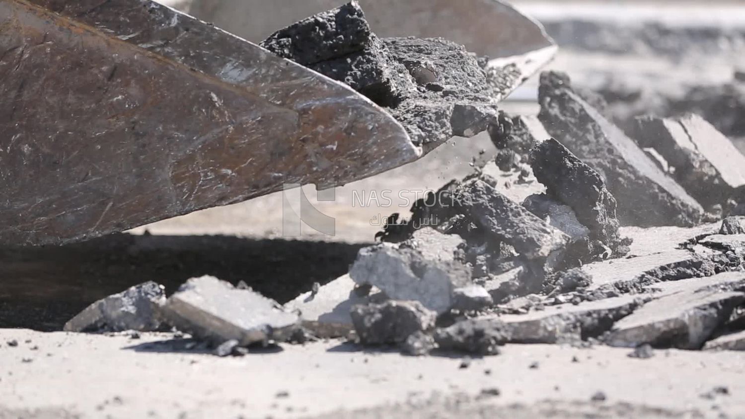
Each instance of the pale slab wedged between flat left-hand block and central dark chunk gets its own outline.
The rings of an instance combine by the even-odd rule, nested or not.
[[[347,336],[354,330],[349,310],[357,304],[381,303],[386,296],[373,289],[360,295],[357,284],[343,275],[323,285],[314,295],[312,291],[299,295],[285,304],[285,310],[298,311],[302,327],[311,330],[320,338]]]

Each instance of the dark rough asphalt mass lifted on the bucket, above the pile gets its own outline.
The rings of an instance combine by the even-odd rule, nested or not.
[[[498,115],[486,71],[463,45],[380,39],[356,1],[277,31],[261,46],[386,107],[425,153],[454,135],[486,130]]]

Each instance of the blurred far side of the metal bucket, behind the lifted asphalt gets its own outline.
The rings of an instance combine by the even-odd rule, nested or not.
[[[277,28],[337,7],[340,0],[194,0],[189,13],[253,42]],[[359,0],[378,36],[441,36],[491,58],[493,68],[513,66],[496,100],[553,59],[557,46],[542,25],[498,0]]]

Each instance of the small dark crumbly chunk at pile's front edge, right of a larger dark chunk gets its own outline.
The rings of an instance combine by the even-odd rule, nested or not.
[[[444,351],[477,355],[498,355],[509,341],[500,322],[488,319],[466,319],[434,332],[434,341]]]

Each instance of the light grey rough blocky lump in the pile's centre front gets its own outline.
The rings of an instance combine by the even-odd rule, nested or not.
[[[471,282],[468,266],[454,259],[463,239],[433,228],[416,231],[402,243],[380,243],[360,249],[349,276],[396,300],[415,300],[437,313],[454,303],[453,290]]]

